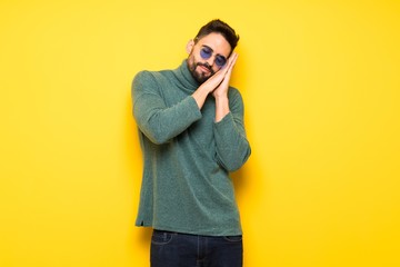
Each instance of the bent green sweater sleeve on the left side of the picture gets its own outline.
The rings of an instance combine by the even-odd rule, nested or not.
[[[192,96],[168,107],[156,78],[149,71],[139,72],[132,82],[133,117],[139,129],[154,144],[168,142],[201,118]]]

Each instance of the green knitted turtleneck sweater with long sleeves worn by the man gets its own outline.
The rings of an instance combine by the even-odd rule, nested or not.
[[[250,156],[242,98],[230,87],[230,112],[214,122],[214,98],[208,96],[200,110],[191,96],[199,86],[186,60],[174,70],[141,71],[133,79],[133,116],[144,165],[136,225],[241,235],[229,172]]]

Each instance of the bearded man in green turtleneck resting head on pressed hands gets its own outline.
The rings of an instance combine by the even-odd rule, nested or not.
[[[240,92],[229,86],[239,36],[203,26],[174,70],[132,83],[143,176],[137,226],[153,228],[152,267],[242,266],[242,231],[229,172],[250,156]]]

